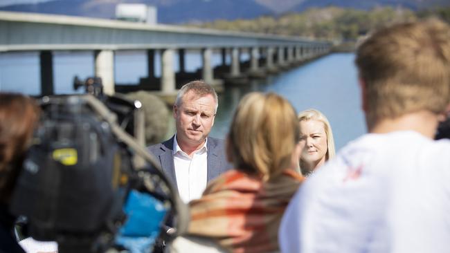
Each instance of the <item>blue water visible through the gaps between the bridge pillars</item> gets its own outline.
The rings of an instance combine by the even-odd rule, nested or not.
[[[249,52],[243,51],[241,61],[249,59]],[[147,59],[144,50],[120,50],[114,54],[114,79],[117,84],[136,84],[140,77],[147,76]],[[186,50],[186,71],[201,68],[200,50]],[[154,75],[161,76],[161,53],[155,51]],[[230,64],[228,54],[226,64]],[[213,66],[222,64],[219,50],[213,51]],[[179,58],[174,54],[174,71],[179,71]],[[94,75],[92,51],[53,51],[53,83],[55,94],[77,93],[73,91],[73,77],[85,79]],[[0,90],[17,91],[28,95],[39,95],[40,73],[39,53],[0,53]]]

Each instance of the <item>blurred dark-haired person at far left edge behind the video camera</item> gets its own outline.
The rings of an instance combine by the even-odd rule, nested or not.
[[[39,109],[33,99],[0,93],[0,252],[24,252],[14,235],[16,217],[9,212],[12,190],[19,176]]]

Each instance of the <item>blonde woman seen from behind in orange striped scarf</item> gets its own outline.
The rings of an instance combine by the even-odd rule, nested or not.
[[[227,139],[234,169],[190,202],[188,234],[208,238],[226,252],[278,251],[280,219],[303,180],[294,171],[299,136],[296,112],[287,100],[275,93],[246,95]]]

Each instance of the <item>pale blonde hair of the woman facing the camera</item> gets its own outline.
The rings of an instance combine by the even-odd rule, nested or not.
[[[327,118],[323,115],[323,113],[321,113],[321,111],[316,109],[307,109],[298,113],[298,122],[307,120],[317,120],[323,123],[323,129],[325,129],[325,135],[327,135],[327,153],[325,153],[325,160],[334,158],[336,151],[334,149],[333,131],[331,129],[330,122],[328,122]]]

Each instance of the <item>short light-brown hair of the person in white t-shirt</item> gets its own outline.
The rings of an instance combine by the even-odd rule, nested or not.
[[[381,29],[359,46],[368,125],[450,102],[450,27],[438,19]]]

